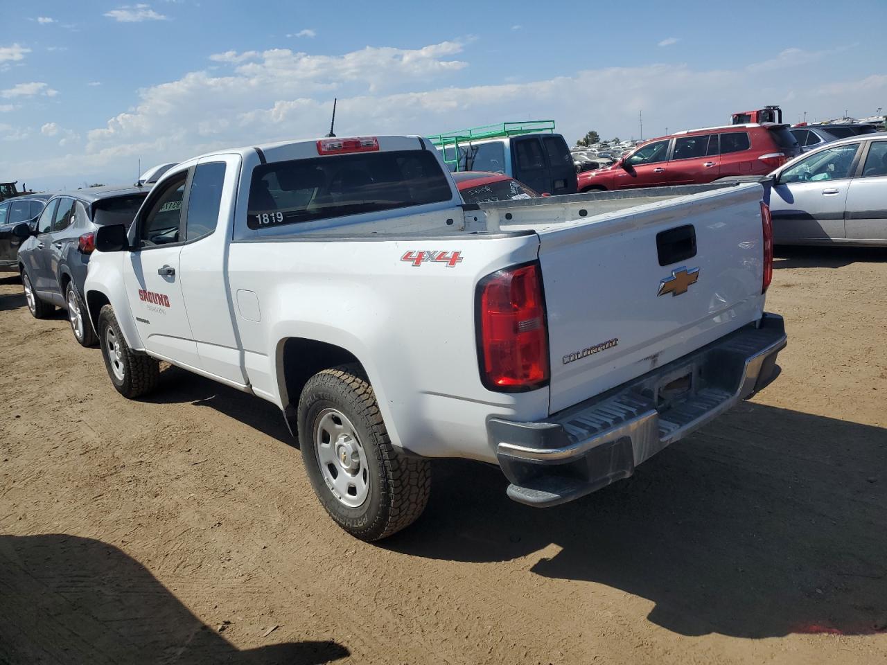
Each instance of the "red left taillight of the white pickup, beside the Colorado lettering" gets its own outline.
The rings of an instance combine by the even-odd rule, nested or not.
[[[478,284],[477,350],[489,390],[515,393],[546,385],[548,332],[538,263],[499,270]]]

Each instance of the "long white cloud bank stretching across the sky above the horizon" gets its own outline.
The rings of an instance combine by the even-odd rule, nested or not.
[[[530,82],[451,86],[451,74],[467,66],[462,43],[420,49],[372,47],[333,56],[287,49],[228,51],[212,61],[219,71],[195,71],[139,90],[137,103],[91,129],[82,143],[59,127],[59,144],[48,151],[0,152],[0,171],[14,168],[29,181],[54,184],[83,179],[125,179],[132,158],[184,160],[195,154],[279,139],[317,137],[329,128],[339,98],[336,133],[431,134],[493,121],[532,117],[557,121],[572,142],[596,129],[603,136],[638,137],[643,109],[645,137],[727,121],[749,98],[780,99],[787,117],[797,109],[826,117],[844,108],[874,109],[887,90],[887,75],[860,81],[828,79],[799,70],[797,76],[762,77],[755,63],[732,70],[686,65],[610,67]],[[34,84],[20,84],[34,85]],[[45,84],[43,84],[45,86]],[[43,89],[40,89],[43,90]],[[36,90],[35,94],[39,94]],[[707,90],[704,99],[695,94]],[[0,94],[3,94],[0,92]],[[839,109],[834,113],[835,109]],[[590,117],[596,118],[590,124]],[[68,137],[68,132],[72,136]],[[26,129],[10,132],[13,136]],[[30,144],[28,144],[30,145]],[[69,147],[70,146],[70,147]]]

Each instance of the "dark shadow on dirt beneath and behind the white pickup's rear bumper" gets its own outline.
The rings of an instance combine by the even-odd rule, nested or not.
[[[427,512],[381,545],[493,562],[554,544],[532,574],[652,600],[649,621],[682,635],[871,634],[887,628],[885,469],[887,430],[742,403],[551,509],[507,499],[498,469],[438,463]]]

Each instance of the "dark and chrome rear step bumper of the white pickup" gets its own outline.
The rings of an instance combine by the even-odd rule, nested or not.
[[[508,496],[558,505],[627,478],[665,446],[748,399],[778,375],[782,317],[755,325],[540,422],[490,419]]]

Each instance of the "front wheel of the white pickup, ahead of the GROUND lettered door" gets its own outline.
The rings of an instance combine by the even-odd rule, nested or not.
[[[151,356],[137,354],[129,347],[111,305],[105,305],[98,312],[98,345],[102,349],[108,376],[118,393],[127,399],[136,399],[157,387],[160,363]]]

